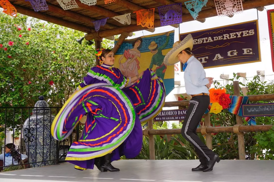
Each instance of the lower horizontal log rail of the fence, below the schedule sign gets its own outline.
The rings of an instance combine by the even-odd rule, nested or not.
[[[206,133],[233,133],[233,127],[235,126],[228,126],[228,127],[207,127]],[[246,125],[246,126],[239,126],[239,132],[255,132],[255,131],[269,131],[273,125]],[[143,134],[148,133],[149,135],[170,135],[170,134],[181,134],[181,129],[161,129],[161,130],[152,130],[152,129],[145,129],[143,130]],[[197,128],[197,133],[201,133],[201,128]]]

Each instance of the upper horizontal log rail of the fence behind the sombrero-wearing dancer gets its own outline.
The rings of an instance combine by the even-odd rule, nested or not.
[[[263,94],[263,95],[247,95],[249,97],[249,101],[269,101],[274,100],[274,94]],[[187,101],[172,101],[165,102],[164,107],[180,107],[189,105],[189,100]]]

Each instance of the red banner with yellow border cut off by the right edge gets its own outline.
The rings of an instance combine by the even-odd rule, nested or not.
[[[271,48],[271,58],[272,58],[272,71],[274,72],[274,9],[267,10],[267,20],[269,28],[269,39]]]

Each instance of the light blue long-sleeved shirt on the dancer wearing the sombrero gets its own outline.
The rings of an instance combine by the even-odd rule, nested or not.
[[[209,93],[206,85],[209,84],[206,72],[199,60],[191,56],[187,60],[187,67],[184,71],[185,90],[189,95]]]

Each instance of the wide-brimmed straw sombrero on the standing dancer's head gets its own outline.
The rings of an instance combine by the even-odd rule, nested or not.
[[[173,44],[173,48],[165,55],[164,64],[169,66],[178,63],[177,55],[186,48],[190,48],[190,50],[193,48],[193,38],[191,34],[188,34],[181,42],[177,41]]]

